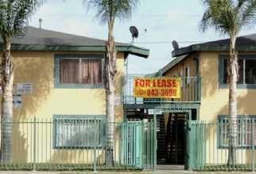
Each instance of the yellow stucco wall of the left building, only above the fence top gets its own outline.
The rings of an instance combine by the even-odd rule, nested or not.
[[[32,83],[33,92],[21,95],[21,108],[14,109],[14,119],[48,118],[52,115],[105,115],[105,89],[54,89],[54,54],[70,52],[13,51],[17,68],[14,73],[14,94],[17,83]],[[72,54],[95,54],[74,52]],[[99,53],[98,53],[99,54]],[[123,54],[118,53],[118,81],[115,96],[120,99],[120,83],[124,74]],[[122,105],[114,109],[115,118],[122,119]]]

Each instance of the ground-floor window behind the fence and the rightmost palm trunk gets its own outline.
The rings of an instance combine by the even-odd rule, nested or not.
[[[229,119],[227,115],[219,115],[219,147],[227,148],[229,141]],[[237,146],[240,148],[256,145],[256,116],[238,116],[237,119]],[[254,127],[253,127],[254,126]],[[254,128],[254,129],[253,129]],[[254,134],[253,134],[254,131]],[[254,136],[254,138],[253,138]]]

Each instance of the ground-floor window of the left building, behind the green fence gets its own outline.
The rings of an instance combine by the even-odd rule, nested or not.
[[[105,144],[105,116],[54,115],[54,148],[91,149]]]

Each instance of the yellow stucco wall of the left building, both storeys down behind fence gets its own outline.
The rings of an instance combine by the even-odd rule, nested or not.
[[[31,123],[14,123],[13,150],[14,161],[33,161],[34,127],[33,118],[46,122],[52,115],[106,115],[105,89],[54,89],[54,55],[55,54],[88,54],[95,52],[50,52],[50,51],[12,51],[17,68],[14,72],[14,95],[17,94],[17,83],[32,83],[33,92],[21,94],[21,108],[14,108],[14,120]],[[96,54],[100,54],[97,52]],[[101,53],[103,54],[103,53]],[[114,119],[122,121],[121,77],[125,73],[124,54],[117,54],[118,79],[115,91]],[[1,110],[1,108],[0,108]],[[37,124],[37,159],[38,162],[52,162],[66,159],[70,162],[80,161],[83,155],[94,158],[90,149],[53,149],[53,124]],[[116,136],[118,146],[118,136]],[[104,150],[99,149],[97,161],[103,161]],[[118,153],[115,153],[118,155]],[[53,159],[54,158],[54,159]],[[55,159],[56,158],[56,159]]]

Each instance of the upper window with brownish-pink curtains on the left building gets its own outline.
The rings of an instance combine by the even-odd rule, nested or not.
[[[56,55],[56,88],[103,86],[103,55]]]

